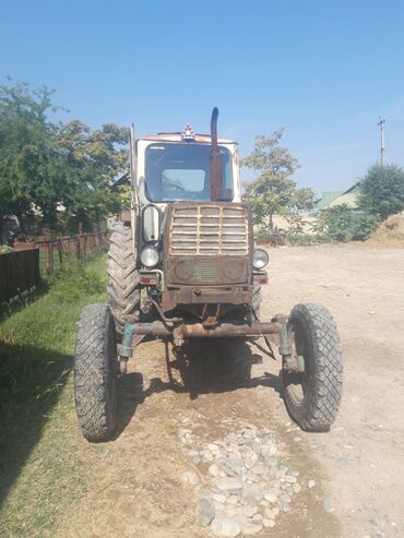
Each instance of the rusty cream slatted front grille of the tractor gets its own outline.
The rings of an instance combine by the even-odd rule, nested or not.
[[[248,253],[248,213],[242,205],[174,206],[170,255],[246,256]]]

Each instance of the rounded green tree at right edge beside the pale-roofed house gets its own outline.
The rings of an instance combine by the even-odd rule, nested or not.
[[[381,219],[404,210],[404,170],[373,165],[360,181],[359,205]]]

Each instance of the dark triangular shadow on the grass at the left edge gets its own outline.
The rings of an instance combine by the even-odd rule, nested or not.
[[[39,441],[72,357],[0,340],[0,506]]]

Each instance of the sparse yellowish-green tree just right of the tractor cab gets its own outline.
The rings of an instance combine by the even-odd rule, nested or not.
[[[299,166],[286,147],[280,146],[284,130],[275,131],[271,138],[256,136],[254,150],[241,159],[241,166],[252,168],[260,175],[245,183],[243,200],[252,210],[254,224],[274,229],[273,216],[282,215],[292,231],[301,228],[301,211],[313,207],[314,193],[311,189],[299,189],[290,176]]]

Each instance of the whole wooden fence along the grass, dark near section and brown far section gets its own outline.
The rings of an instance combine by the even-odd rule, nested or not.
[[[16,252],[0,254],[0,302],[35,286],[73,260],[83,260],[108,249],[108,235],[97,231],[52,238],[49,232],[36,241],[14,242]]]

